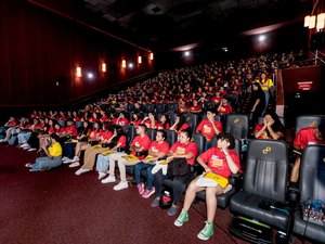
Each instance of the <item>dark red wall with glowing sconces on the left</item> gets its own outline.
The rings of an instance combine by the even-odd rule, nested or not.
[[[62,104],[154,68],[147,51],[25,0],[0,1],[0,106]],[[138,55],[145,56],[141,65]],[[135,66],[121,68],[122,59]]]

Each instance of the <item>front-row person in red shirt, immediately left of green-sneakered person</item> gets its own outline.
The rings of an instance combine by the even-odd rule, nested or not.
[[[159,200],[162,195],[162,182],[165,179],[172,179],[177,185],[184,184],[190,176],[190,171],[187,168],[187,172],[182,174],[182,176],[174,175],[172,171],[173,165],[178,165],[179,167],[184,166],[184,164],[193,165],[195,162],[195,157],[197,155],[197,145],[192,142],[192,131],[190,129],[183,130],[179,134],[179,141],[176,142],[169,153],[167,154],[167,162],[170,164],[170,170],[167,171],[167,175],[164,175],[162,170],[158,170],[154,176],[154,185],[156,188],[156,197],[152,202],[152,206],[156,207],[159,205]],[[185,168],[186,168],[185,166]],[[172,206],[168,209],[168,215],[172,216],[177,214],[178,204],[182,197],[183,191],[180,188],[173,188],[173,203]]]

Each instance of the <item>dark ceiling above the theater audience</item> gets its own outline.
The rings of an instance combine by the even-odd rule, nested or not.
[[[69,0],[130,41],[166,50],[302,21],[312,0]]]

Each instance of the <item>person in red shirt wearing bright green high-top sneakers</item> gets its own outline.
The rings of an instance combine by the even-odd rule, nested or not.
[[[217,145],[204,152],[197,157],[206,172],[212,171],[224,178],[240,170],[239,157],[232,149],[235,146],[235,139],[230,133],[220,133]],[[188,185],[185,194],[183,209],[174,221],[174,226],[181,227],[188,220],[188,209],[195,200],[196,193],[206,191],[207,221],[205,228],[197,234],[200,240],[208,240],[213,234],[213,220],[217,210],[217,195],[231,190],[230,187],[222,189],[217,187],[199,187],[197,181],[202,176],[194,179]]]

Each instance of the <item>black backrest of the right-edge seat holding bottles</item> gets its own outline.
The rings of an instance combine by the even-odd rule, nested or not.
[[[300,201],[325,200],[325,146],[308,145],[301,156]]]

